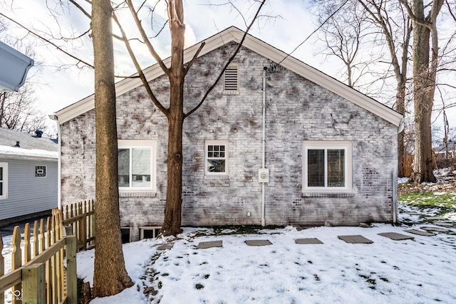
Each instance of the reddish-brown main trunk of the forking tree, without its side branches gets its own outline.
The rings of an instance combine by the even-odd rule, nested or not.
[[[170,110],[168,119],[167,193],[161,234],[180,234],[182,206],[182,127],[184,123],[184,9],[182,0],[170,0],[171,31]]]

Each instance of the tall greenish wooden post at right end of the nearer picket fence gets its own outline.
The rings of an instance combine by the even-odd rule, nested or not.
[[[68,304],[76,304],[78,300],[78,278],[76,272],[76,236],[71,226],[66,226],[66,282]]]

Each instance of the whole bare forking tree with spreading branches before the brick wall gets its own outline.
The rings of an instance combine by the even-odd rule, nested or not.
[[[237,55],[239,49],[242,46],[242,42],[244,38],[247,36],[249,29],[253,26],[254,21],[256,21],[259,11],[261,7],[264,5],[266,0],[262,1],[254,1],[258,2],[259,6],[257,9],[257,13],[254,15],[252,21],[249,24],[246,24],[247,30],[244,33],[244,37],[242,41],[240,41],[236,51],[232,54],[232,56],[227,60],[225,63],[224,68],[222,68],[221,72],[219,73],[217,80],[215,83],[207,90],[204,94],[204,97],[199,102],[199,104],[192,108],[192,110],[188,111],[187,113],[184,112],[184,83],[185,83],[185,75],[187,75],[190,68],[192,68],[192,64],[195,63],[200,51],[204,47],[204,43],[201,43],[199,46],[198,51],[195,53],[195,56],[192,58],[190,63],[185,64],[184,62],[184,37],[185,37],[185,21],[184,21],[184,6],[182,4],[182,0],[169,0],[166,1],[167,3],[167,15],[170,26],[170,34],[171,34],[171,65],[170,68],[165,66],[160,56],[158,56],[155,48],[153,48],[152,43],[150,43],[149,38],[147,37],[144,28],[142,27],[141,21],[138,17],[138,11],[133,6],[131,0],[126,0],[128,8],[135,20],[135,24],[138,27],[138,31],[140,31],[142,41],[144,41],[145,45],[149,49],[151,55],[157,63],[160,65],[162,70],[164,71],[165,75],[170,82],[170,106],[169,108],[165,108],[160,100],[157,100],[152,89],[150,88],[145,75],[142,73],[142,68],[138,63],[138,60],[135,57],[135,53],[133,52],[133,48],[130,46],[130,40],[127,38],[125,31],[123,31],[122,24],[118,21],[117,18],[114,20],[118,24],[120,31],[122,33],[122,39],[125,43],[125,46],[128,49],[128,53],[130,53],[130,57],[135,63],[135,68],[138,71],[140,79],[142,80],[142,84],[145,86],[147,94],[149,95],[150,100],[152,103],[157,106],[158,109],[167,117],[168,122],[168,150],[167,150],[167,192],[166,192],[166,204],[165,204],[165,219],[162,224],[162,228],[160,229],[160,233],[164,236],[171,236],[179,234],[181,229],[181,211],[182,211],[182,127],[183,122],[186,117],[190,116],[193,112],[195,112],[206,100],[209,93],[212,89],[217,85],[220,78],[224,73],[224,70],[227,68],[229,63],[232,62],[234,56]],[[229,4],[233,5],[231,2]]]

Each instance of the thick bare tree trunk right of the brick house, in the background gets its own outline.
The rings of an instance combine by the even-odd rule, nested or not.
[[[425,21],[423,0],[412,1],[413,14]],[[437,50],[435,50],[437,52]],[[415,159],[413,182],[435,182],[432,170],[431,114],[435,71],[430,68],[430,28],[413,22],[413,98],[415,100]]]

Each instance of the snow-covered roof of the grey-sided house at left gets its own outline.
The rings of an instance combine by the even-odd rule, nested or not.
[[[50,138],[0,128],[0,157],[57,160],[58,144]]]

